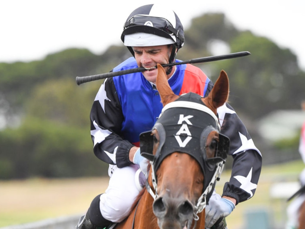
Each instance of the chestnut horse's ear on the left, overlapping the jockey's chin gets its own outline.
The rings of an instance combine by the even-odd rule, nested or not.
[[[175,95],[173,90],[170,88],[164,68],[160,64],[157,64],[157,67],[158,75],[156,79],[156,87],[160,94],[161,102],[164,107],[166,104],[178,99],[179,96]]]

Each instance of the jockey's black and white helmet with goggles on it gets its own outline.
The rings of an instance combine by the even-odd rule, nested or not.
[[[121,40],[132,55],[132,46],[174,44],[180,49],[184,44],[184,31],[173,10],[150,4],[140,6],[128,16]]]

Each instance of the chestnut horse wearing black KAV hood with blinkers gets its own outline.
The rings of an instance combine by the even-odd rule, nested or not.
[[[140,134],[141,155],[149,160],[146,189],[116,229],[205,228],[205,206],[220,178],[229,139],[220,134],[217,107],[228,99],[224,71],[206,98],[175,95],[158,64],[156,87],[163,104],[152,131]]]

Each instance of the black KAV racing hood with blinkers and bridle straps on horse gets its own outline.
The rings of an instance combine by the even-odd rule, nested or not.
[[[179,101],[176,100],[163,107],[158,121],[152,128],[152,129],[157,129],[159,136],[160,136],[159,146],[158,146],[158,149],[156,150],[155,155],[152,154],[152,148],[153,148],[152,132],[151,131],[144,132],[140,135],[141,155],[146,157],[147,159],[149,159],[151,169],[152,169],[152,173],[151,173],[152,187],[149,185],[148,181],[146,181],[146,189],[154,200],[156,200],[156,198],[158,197],[156,169],[158,169],[158,167],[160,166],[160,163],[167,155],[171,154],[174,151],[180,151],[180,152],[186,151],[186,153],[192,155],[201,165],[201,168],[203,169],[203,173],[205,174],[204,180],[206,180],[206,178],[207,178],[209,181],[208,181],[208,183],[205,181],[203,193],[198,198],[197,203],[194,206],[193,219],[195,221],[197,221],[199,219],[198,213],[201,213],[203,211],[203,209],[206,207],[206,205],[208,204],[209,198],[215,187],[215,183],[217,180],[220,179],[220,175],[224,168],[225,159],[227,157],[228,149],[229,149],[228,137],[219,133],[220,124],[218,122],[217,116],[203,103],[197,102],[198,96],[199,95],[196,95],[194,93],[191,93],[191,95],[189,96],[189,97],[191,97],[191,100],[195,100],[196,102],[185,101],[183,99],[180,100],[180,98],[183,98],[183,96],[180,96],[180,98],[178,99]],[[200,96],[200,98],[201,98],[201,96]],[[187,112],[187,113],[183,113],[183,112]],[[184,115],[181,115],[181,113]],[[169,146],[167,144],[167,141],[166,141],[167,138],[174,139],[174,137],[175,137],[177,139],[177,135],[175,135],[175,133],[173,132],[172,129],[170,129],[170,127],[173,126],[173,122],[174,122],[174,121],[172,122],[171,120],[175,119],[175,117],[177,120],[178,115],[180,115],[180,119],[178,121],[178,124],[176,123],[176,126],[183,125],[182,124],[183,122],[180,121],[180,120],[183,120],[188,124],[191,123],[192,128],[193,129],[195,128],[195,132],[194,132],[195,134],[193,134],[193,135],[191,134],[191,136],[188,136],[194,142],[193,144],[192,144],[191,140],[189,140],[188,144],[183,144],[182,147],[181,147],[181,145],[182,145],[181,143],[179,143],[179,146],[176,146],[176,147],[175,146],[172,147],[172,145]],[[197,119],[194,117],[197,117]],[[192,122],[190,122],[190,120],[192,120]],[[201,122],[200,122],[200,120],[201,120]],[[204,124],[204,126],[203,126],[203,122],[208,122],[208,125]],[[193,123],[194,123],[194,125],[193,125]],[[167,124],[169,124],[169,125],[167,125]],[[198,125],[198,126],[196,126],[196,125]],[[184,128],[188,128],[187,125],[185,125]],[[216,130],[218,132],[219,142],[217,145],[217,151],[215,152],[215,154],[216,154],[215,157],[206,158],[204,139],[206,140],[207,134],[210,133],[212,130]],[[177,131],[177,128],[175,129],[175,131]],[[184,132],[188,132],[188,131],[185,130]],[[199,132],[201,132],[201,133],[199,133]],[[200,137],[198,137],[198,135]],[[171,143],[173,141],[174,140],[172,140]],[[197,146],[197,151],[195,153],[192,152],[192,148],[194,148],[193,147],[194,144],[200,144],[200,147]],[[170,147],[172,147],[172,148],[170,148]],[[199,158],[203,158],[203,160],[200,160]],[[212,167],[209,167],[209,165],[212,165]],[[211,173],[213,173],[213,174],[210,175]]]

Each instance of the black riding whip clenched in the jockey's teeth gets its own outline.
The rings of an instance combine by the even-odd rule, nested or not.
[[[206,62],[211,62],[211,61],[216,61],[216,60],[227,60],[227,59],[232,59],[232,58],[237,58],[241,56],[248,56],[251,53],[248,51],[244,52],[238,52],[238,53],[229,53],[229,54],[224,54],[224,55],[219,55],[219,56],[207,56],[207,57],[200,57],[200,58],[195,58],[191,60],[185,60],[181,62],[176,62],[176,63],[170,63],[170,64],[162,64],[162,67],[170,67],[174,65],[180,65],[180,64],[198,64],[198,63],[206,63]],[[157,66],[152,67],[152,68],[144,68],[144,67],[138,67],[138,68],[132,68],[132,69],[127,69],[127,70],[122,70],[122,71],[114,71],[114,72],[108,72],[108,73],[103,73],[103,74],[98,74],[98,75],[89,75],[89,76],[82,76],[82,77],[76,77],[76,83],[77,85],[80,85],[82,83],[86,82],[91,82],[99,79],[106,79],[114,76],[119,76],[119,75],[126,75],[126,74],[131,74],[131,73],[136,73],[136,72],[142,72],[142,71],[147,71],[151,69],[155,69]]]

